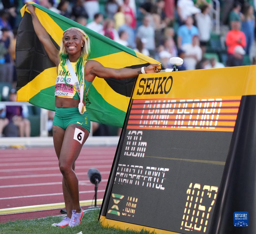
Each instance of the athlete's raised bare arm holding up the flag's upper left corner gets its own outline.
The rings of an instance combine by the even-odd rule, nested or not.
[[[30,15],[32,17],[32,22],[34,26],[34,30],[40,42],[43,44],[47,55],[49,56],[50,60],[58,66],[59,61],[59,51],[56,49],[54,44],[52,43],[47,31],[40,23],[39,19],[35,13],[35,7],[28,2],[26,2],[27,9],[30,11]]]

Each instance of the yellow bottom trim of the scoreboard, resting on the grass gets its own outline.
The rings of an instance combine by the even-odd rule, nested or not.
[[[180,232],[166,231],[158,228],[151,228],[151,227],[146,227],[146,226],[137,225],[137,224],[120,222],[120,221],[108,219],[102,215],[100,216],[100,222],[103,227],[121,228],[123,230],[130,229],[130,230],[140,231],[143,229],[150,232],[156,232],[157,234],[182,234]]]

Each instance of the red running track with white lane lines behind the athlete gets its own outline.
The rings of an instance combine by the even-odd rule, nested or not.
[[[104,196],[116,147],[83,147],[76,161],[80,200],[94,196],[94,185],[87,177],[89,168],[97,168],[102,181],[97,198]],[[0,209],[64,202],[62,175],[54,148],[0,150]],[[60,209],[0,215],[0,222],[60,214]]]

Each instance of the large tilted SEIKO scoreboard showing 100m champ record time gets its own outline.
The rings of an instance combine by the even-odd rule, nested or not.
[[[155,233],[256,233],[256,66],[137,77],[100,213]],[[234,212],[250,222],[234,226]]]

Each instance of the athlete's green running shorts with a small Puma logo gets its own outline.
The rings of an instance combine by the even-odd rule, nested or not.
[[[91,122],[89,114],[85,111],[83,114],[79,113],[78,107],[74,108],[58,108],[55,107],[55,115],[52,125],[59,126],[66,130],[70,124],[81,125],[88,132],[91,129]]]

